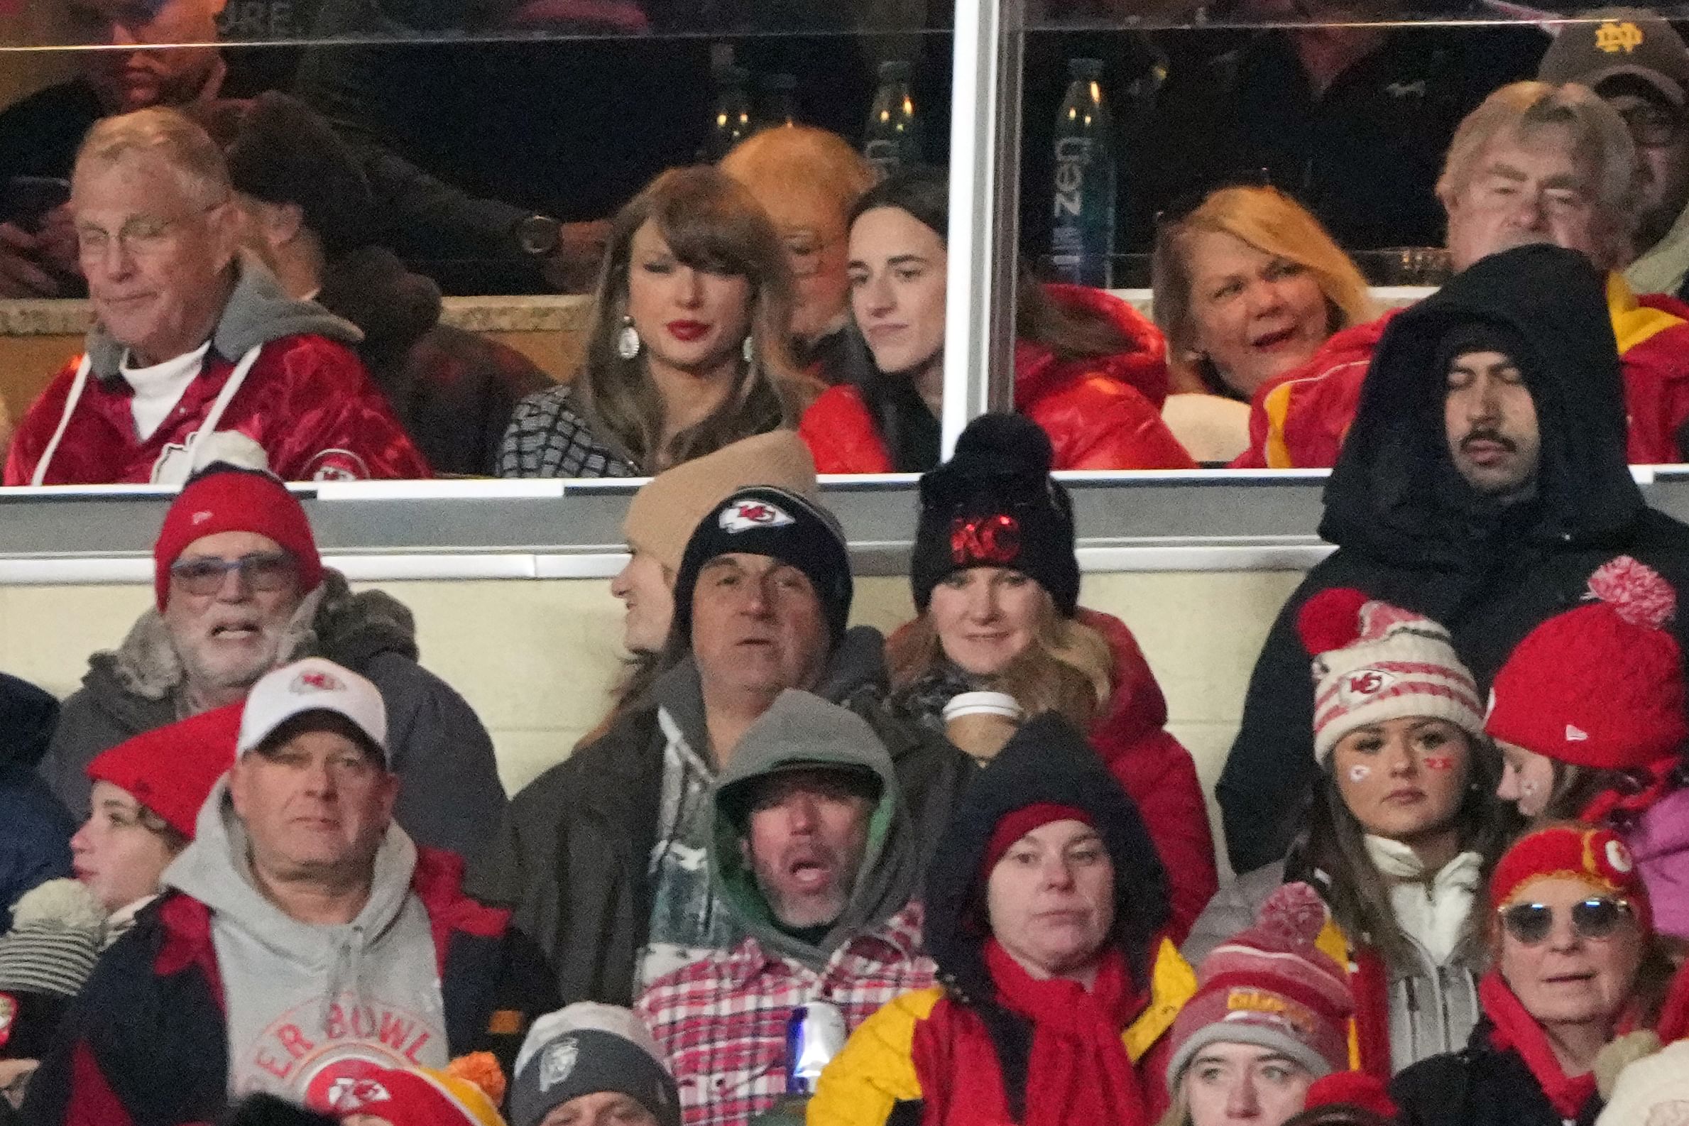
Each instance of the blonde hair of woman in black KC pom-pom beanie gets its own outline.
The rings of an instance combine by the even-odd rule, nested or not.
[[[1108,711],[1113,696],[1115,652],[1108,638],[1074,618],[1056,613],[1056,599],[1039,587],[1039,623],[1027,645],[1002,672],[993,689],[1008,692],[1027,717],[1061,712],[1081,731]],[[944,660],[944,641],[926,613],[885,645],[892,689],[905,689]]]

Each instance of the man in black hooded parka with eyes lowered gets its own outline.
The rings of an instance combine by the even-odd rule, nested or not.
[[[1513,375],[1453,363],[1474,344],[1507,353]],[[1576,252],[1491,255],[1395,317],[1326,485],[1319,533],[1338,552],[1274,623],[1219,778],[1236,871],[1284,856],[1316,775],[1295,616],[1317,591],[1353,586],[1441,621],[1483,689],[1615,555],[1686,589],[1689,528],[1643,503],[1625,425],[1603,282]],[[1689,640],[1682,620],[1674,630]]]

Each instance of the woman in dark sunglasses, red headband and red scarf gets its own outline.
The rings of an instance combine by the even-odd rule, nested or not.
[[[1400,1121],[1588,1126],[1596,1052],[1647,1028],[1670,977],[1630,849],[1610,829],[1539,829],[1496,864],[1490,908],[1483,1020],[1464,1052],[1397,1075]]]

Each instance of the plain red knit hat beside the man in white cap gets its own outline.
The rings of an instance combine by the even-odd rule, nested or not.
[[[193,841],[199,807],[235,765],[240,704],[142,731],[88,763],[88,777],[110,782]]]

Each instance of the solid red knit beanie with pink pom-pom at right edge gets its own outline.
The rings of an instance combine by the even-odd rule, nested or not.
[[[1584,603],[1518,643],[1495,677],[1485,729],[1574,766],[1675,758],[1689,741],[1682,653],[1664,628],[1675,591],[1620,555],[1589,576]]]

